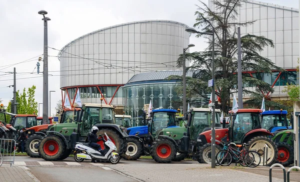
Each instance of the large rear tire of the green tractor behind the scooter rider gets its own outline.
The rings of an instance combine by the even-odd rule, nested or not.
[[[104,132],[110,138],[110,140],[114,143],[114,145],[116,147],[116,151],[114,151],[114,152],[118,153],[119,155],[122,155],[123,153],[126,152],[127,148],[124,148],[127,146],[126,139],[123,140],[118,133],[116,133],[115,131],[113,131],[111,129],[107,129],[107,128],[98,130],[97,136],[100,134],[105,136]],[[102,141],[100,141],[99,143],[101,143],[101,142]]]

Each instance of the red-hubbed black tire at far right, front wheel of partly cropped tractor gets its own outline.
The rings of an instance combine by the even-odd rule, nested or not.
[[[281,163],[284,167],[293,164],[293,148],[289,144],[284,142],[278,142],[276,143],[276,146],[278,148],[277,162]]]

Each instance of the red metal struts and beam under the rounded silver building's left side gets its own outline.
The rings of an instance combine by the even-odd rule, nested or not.
[[[75,88],[75,89],[76,89],[75,94],[74,94],[74,98],[72,98],[72,99],[73,99],[73,102],[72,102],[72,104],[71,104],[71,107],[73,108],[73,105],[74,105],[74,101],[75,101],[75,98],[76,98],[77,91],[78,91],[79,88],[82,88],[82,87],[96,87],[97,90],[99,91],[100,95],[101,95],[100,98],[103,98],[105,104],[107,104],[107,101],[106,101],[105,97],[103,96],[103,94],[102,94],[102,92],[101,92],[101,90],[100,90],[99,87],[109,87],[109,86],[116,86],[116,89],[115,89],[115,91],[114,91],[114,93],[113,93],[113,95],[112,95],[112,97],[111,97],[111,99],[110,99],[110,101],[109,101],[109,103],[108,103],[108,104],[110,105],[111,102],[112,102],[112,100],[113,100],[113,98],[114,98],[114,96],[115,96],[115,94],[116,94],[116,92],[118,91],[118,89],[119,89],[121,86],[124,86],[123,84],[122,84],[122,85],[120,85],[120,84],[112,84],[112,85],[80,85],[80,86],[63,87],[63,88],[61,88],[61,101],[62,101],[62,107],[64,106],[65,95],[67,95],[68,100],[69,100],[69,103],[71,103],[71,98],[70,98],[70,96],[69,96],[68,89],[69,89],[69,88]],[[66,94],[63,94],[63,93],[62,93],[63,90],[66,92]],[[100,99],[100,98],[99,98],[99,99]]]

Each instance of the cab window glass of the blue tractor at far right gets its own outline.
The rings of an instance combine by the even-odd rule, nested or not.
[[[262,128],[271,130],[273,127],[286,127],[286,115],[263,115]]]

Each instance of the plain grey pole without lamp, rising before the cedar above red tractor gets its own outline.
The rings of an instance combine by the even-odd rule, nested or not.
[[[238,98],[238,102],[237,102],[238,108],[242,109],[240,27],[237,27],[237,98]]]

